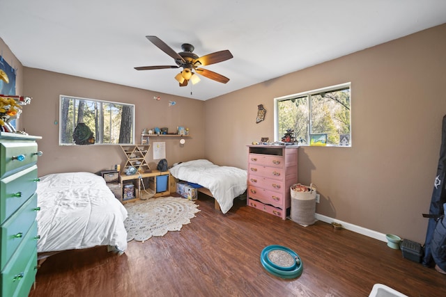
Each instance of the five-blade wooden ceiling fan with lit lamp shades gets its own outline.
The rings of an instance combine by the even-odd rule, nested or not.
[[[230,58],[233,58],[231,51],[225,49],[223,51],[215,51],[215,53],[208,54],[205,56],[197,56],[192,51],[194,51],[194,46],[188,43],[181,45],[181,49],[183,51],[176,53],[174,49],[171,49],[169,45],[164,43],[160,38],[156,36],[146,36],[146,38],[151,41],[154,45],[156,45],[159,49],[164,51],[164,53],[168,54],[172,58],[174,58],[176,66],[172,65],[162,65],[162,66],[143,66],[143,67],[134,67],[136,70],[156,70],[156,69],[166,69],[166,68],[180,68],[183,67],[183,70],[176,74],[175,79],[180,83],[180,87],[187,86],[187,81],[191,81],[192,84],[198,83],[200,78],[197,74],[203,75],[203,77],[207,77],[208,79],[213,79],[214,81],[218,81],[219,83],[227,83],[229,79],[227,77],[222,76],[222,74],[215,73],[210,70],[206,70],[200,68],[201,66],[211,65],[215,63],[220,63]]]

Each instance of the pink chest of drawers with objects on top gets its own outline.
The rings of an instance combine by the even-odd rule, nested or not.
[[[248,149],[248,206],[285,220],[290,187],[298,182],[298,146],[248,145]]]

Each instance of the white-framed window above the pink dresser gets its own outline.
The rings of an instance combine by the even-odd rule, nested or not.
[[[275,140],[293,131],[301,145],[351,146],[351,83],[275,98]]]

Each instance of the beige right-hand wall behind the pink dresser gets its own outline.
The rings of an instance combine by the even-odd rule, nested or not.
[[[445,53],[443,24],[208,100],[206,139],[215,141],[206,157],[247,168],[245,145],[274,136],[274,97],[351,81],[352,147],[301,147],[299,182],[318,187],[318,214],[424,243],[446,114]],[[256,124],[258,104],[267,113]]]

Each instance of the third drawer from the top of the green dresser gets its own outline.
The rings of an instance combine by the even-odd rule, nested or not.
[[[37,194],[29,198],[13,216],[0,226],[0,270],[8,263],[24,236],[36,220]]]

